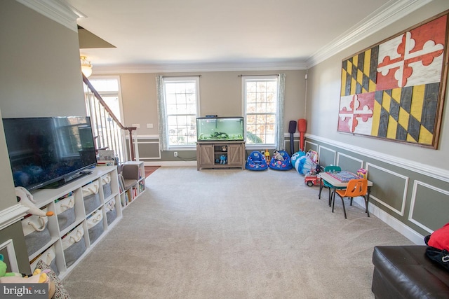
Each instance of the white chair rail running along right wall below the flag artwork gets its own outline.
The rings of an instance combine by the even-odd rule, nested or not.
[[[388,155],[386,153],[379,153],[377,151],[371,151],[368,148],[361,148],[359,146],[353,146],[351,144],[345,144],[340,141],[335,141],[332,139],[327,139],[323,137],[319,137],[312,134],[306,134],[306,137],[309,137],[311,139],[321,141],[325,144],[330,144],[331,146],[337,146],[338,148],[342,148],[347,151],[351,151],[354,153],[358,153],[361,155],[366,155],[367,157],[380,160],[382,162],[387,162],[391,165],[401,167],[404,169],[408,169],[412,172],[416,172],[418,174],[424,174],[426,176],[435,176],[435,174],[438,174],[438,179],[441,181],[445,181],[449,183],[449,170],[438,168],[434,166],[430,166],[427,164],[423,164],[420,162],[415,162],[407,159],[403,159],[400,157],[396,157],[394,155]]]

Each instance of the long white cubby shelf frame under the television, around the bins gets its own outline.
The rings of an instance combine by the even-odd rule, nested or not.
[[[108,230],[110,230],[116,223],[119,222],[119,220],[122,217],[121,213],[121,195],[119,193],[119,181],[117,179],[118,173],[117,173],[117,167],[116,166],[101,166],[101,167],[95,167],[94,169],[88,169],[92,171],[92,174],[88,174],[87,176],[84,176],[81,179],[77,179],[75,181],[72,181],[71,183],[67,183],[67,185],[62,186],[57,189],[40,189],[32,192],[32,195],[34,197],[34,200],[36,200],[36,207],[44,208],[48,207],[48,211],[53,211],[55,213],[54,216],[48,217],[48,223],[47,228],[51,235],[51,241],[45,244],[41,247],[41,249],[37,250],[35,253],[32,253],[31,256],[29,256],[30,263],[34,262],[35,260],[39,260],[41,258],[41,253],[46,251],[49,247],[54,245],[55,248],[55,262],[58,267],[58,270],[60,272],[59,277],[62,279],[64,278],[71,270],[72,268],[79,263],[80,260],[83,259],[84,256],[95,246],[95,244],[98,244],[98,241],[104,237]],[[110,186],[112,193],[105,198],[105,195],[103,193],[102,188],[102,176],[110,176]],[[98,188],[98,207],[95,207],[93,211],[88,212],[86,214],[86,211],[84,209],[84,199],[83,199],[83,186],[86,186],[89,183],[92,182],[98,182],[99,188]],[[62,231],[60,231],[60,226],[58,223],[58,213],[55,209],[55,201],[61,199],[62,197],[66,197],[72,193],[74,196],[74,214],[75,214],[75,220],[73,223],[67,226],[67,228],[64,228]],[[114,221],[112,221],[109,225],[106,221],[107,216],[107,209],[105,209],[105,206],[108,202],[113,201],[113,206],[115,207],[115,213],[116,217],[114,218]],[[102,225],[103,225],[103,232],[100,237],[95,239],[95,242],[91,242],[89,239],[88,234],[88,225],[86,223],[86,219],[91,216],[95,211],[100,211],[102,213]],[[69,265],[67,267],[66,259],[65,259],[65,253],[62,246],[62,239],[69,233],[72,232],[75,228],[77,228],[79,225],[83,228],[83,239],[86,243],[86,251],[84,251],[79,258],[76,259],[72,265]],[[34,269],[31,269],[34,270]]]

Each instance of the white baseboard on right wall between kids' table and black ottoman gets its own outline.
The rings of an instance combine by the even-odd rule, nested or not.
[[[354,202],[356,204],[358,204],[358,206],[360,206],[361,209],[365,209],[365,200],[363,200],[362,197],[354,198]],[[381,221],[383,221],[384,223],[387,223],[387,225],[391,226],[391,228],[394,228],[394,230],[401,233],[404,237],[409,239],[411,242],[413,242],[417,245],[425,245],[423,235],[420,235],[418,232],[415,232],[415,230],[412,230],[411,228],[409,228],[405,223],[398,221],[398,219],[394,218],[393,216],[386,213],[382,209],[379,209],[379,207],[376,207],[374,204],[369,204],[368,210],[370,211],[371,215],[376,216],[377,218],[380,218]]]

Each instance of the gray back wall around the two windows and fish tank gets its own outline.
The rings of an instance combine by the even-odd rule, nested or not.
[[[123,118],[126,126],[139,124],[136,135],[139,142],[139,157],[145,162],[194,161],[196,151],[178,151],[175,158],[171,151],[159,152],[157,142],[158,114],[156,99],[156,76],[201,75],[199,102],[201,116],[241,116],[242,90],[239,75],[286,74],[284,132],[288,132],[290,120],[304,118],[305,70],[274,71],[202,71],[169,74],[115,74],[120,76],[123,100]],[[96,74],[97,75],[97,74]],[[101,75],[101,74],[98,74]],[[152,123],[152,129],[147,124]],[[133,133],[134,134],[134,133]],[[134,135],[133,135],[134,136]],[[296,142],[296,141],[295,141]],[[289,144],[286,144],[289,148]],[[262,148],[261,148],[262,149]]]

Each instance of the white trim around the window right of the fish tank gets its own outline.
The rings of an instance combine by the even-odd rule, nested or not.
[[[244,128],[244,138],[245,138],[245,142],[247,141],[247,130],[246,130],[246,125],[248,123],[248,117],[247,117],[247,113],[246,113],[246,82],[247,81],[264,81],[264,80],[276,80],[277,83],[277,95],[279,95],[279,76],[278,75],[262,75],[262,76],[242,76],[241,77],[241,99],[242,99],[242,115],[245,118],[245,128]],[[277,123],[279,122],[279,115],[278,115],[278,109],[277,106],[279,105],[279,99],[277,98],[276,95],[276,111],[275,116],[276,116],[276,123],[275,123],[275,127],[277,125]],[[245,146],[246,148],[250,148],[250,149],[260,149],[260,148],[265,148],[265,149],[276,149],[277,147],[277,130],[275,130],[274,132],[274,144],[248,144],[246,142]]]

